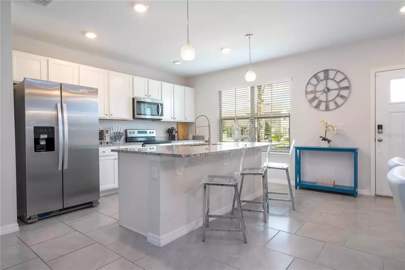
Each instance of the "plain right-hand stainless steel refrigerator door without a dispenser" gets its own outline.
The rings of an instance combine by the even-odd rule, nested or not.
[[[63,206],[100,199],[98,90],[62,84]]]

